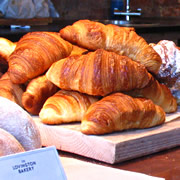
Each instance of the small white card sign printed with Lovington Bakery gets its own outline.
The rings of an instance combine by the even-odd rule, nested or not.
[[[3,156],[0,179],[66,180],[64,168],[54,146]]]

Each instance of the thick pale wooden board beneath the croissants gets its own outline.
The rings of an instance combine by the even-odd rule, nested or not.
[[[39,127],[43,146],[79,154],[110,164],[130,160],[180,145],[180,108],[166,116],[163,125],[128,130],[108,135],[85,135],[80,123],[45,125],[33,117]]]

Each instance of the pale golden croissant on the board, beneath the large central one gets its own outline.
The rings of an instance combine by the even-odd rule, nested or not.
[[[75,91],[59,90],[49,97],[39,113],[46,124],[61,124],[81,121],[88,107],[98,101],[97,97]]]

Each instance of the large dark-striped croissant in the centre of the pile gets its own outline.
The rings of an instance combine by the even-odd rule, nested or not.
[[[145,87],[151,75],[146,68],[114,52],[98,49],[55,62],[46,77],[61,89],[95,96]]]

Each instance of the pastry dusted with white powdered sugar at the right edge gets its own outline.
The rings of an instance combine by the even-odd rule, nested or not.
[[[180,105],[180,48],[169,40],[161,40],[157,44],[150,45],[162,59],[156,78],[170,88]]]

